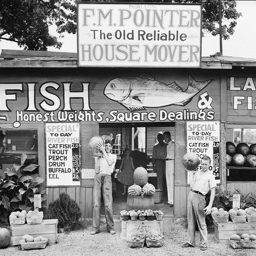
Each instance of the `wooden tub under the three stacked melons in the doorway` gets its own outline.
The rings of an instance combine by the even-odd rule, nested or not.
[[[127,210],[147,210],[147,209],[154,209],[154,198],[153,195],[151,196],[144,196],[141,198],[140,195],[128,195],[126,201],[126,208]]]

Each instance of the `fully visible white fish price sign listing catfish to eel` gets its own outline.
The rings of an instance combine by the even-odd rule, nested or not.
[[[47,186],[79,186],[79,123],[46,123],[45,140]]]

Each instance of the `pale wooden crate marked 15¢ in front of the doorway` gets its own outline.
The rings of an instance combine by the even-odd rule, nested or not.
[[[143,234],[144,236],[149,233],[158,233],[163,236],[163,220],[122,220],[122,231],[120,237],[129,241],[131,233]]]

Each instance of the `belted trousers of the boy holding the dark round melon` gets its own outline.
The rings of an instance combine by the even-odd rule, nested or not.
[[[187,203],[188,234],[187,243],[195,246],[195,221],[197,221],[200,232],[200,245],[207,247],[207,226],[205,223],[205,196],[189,192]]]

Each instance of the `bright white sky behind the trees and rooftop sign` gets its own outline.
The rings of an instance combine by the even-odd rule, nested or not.
[[[230,36],[229,40],[223,40],[223,55],[235,56],[243,58],[256,59],[256,0],[238,0],[237,11],[242,13],[235,27],[235,33]],[[52,34],[55,33],[55,28],[51,28]],[[49,51],[53,52],[77,52],[76,35],[64,34],[64,38],[60,41],[63,43],[61,49],[49,47]],[[16,49],[21,50],[16,43],[5,40],[0,41],[1,49]],[[202,39],[202,56],[213,55],[220,51],[220,43],[218,36],[207,35]]]

